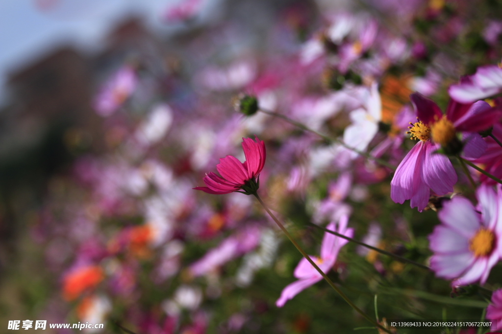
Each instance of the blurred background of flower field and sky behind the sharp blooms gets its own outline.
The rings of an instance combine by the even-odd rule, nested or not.
[[[137,334],[368,326],[323,282],[278,308],[300,255],[251,196],[191,188],[218,158],[242,161],[240,138],[256,134],[268,150],[260,191],[309,253],[323,236],[309,223],[331,200],[332,215],[352,212],[357,238],[372,231],[380,247],[425,262],[436,213],[392,202],[390,170],[277,118],[245,118],[232,99],[253,93],[341,136],[357,98],[336,95],[331,69],[301,59],[316,39],[333,52],[321,35],[348,16],[378,24],[379,45],[343,80],[378,81],[392,117],[417,90],[444,108],[448,84],[500,59],[502,26],[483,35],[500,7],[479,3],[1,1],[0,332],[13,319]],[[120,80],[133,88],[113,91]],[[347,177],[350,190],[337,188]],[[421,270],[348,245],[330,275],[371,316],[378,294],[380,320],[481,318],[482,296],[450,298],[447,281]]]

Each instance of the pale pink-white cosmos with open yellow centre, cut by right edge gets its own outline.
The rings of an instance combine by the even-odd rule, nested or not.
[[[460,196],[446,202],[438,213],[441,224],[429,236],[431,268],[453,279],[453,286],[483,284],[502,254],[502,191],[482,185],[476,196],[476,208]]]

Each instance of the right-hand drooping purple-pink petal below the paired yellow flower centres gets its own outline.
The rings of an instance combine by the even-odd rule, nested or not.
[[[453,191],[457,182],[457,173],[450,159],[442,154],[434,153],[439,145],[425,143],[424,163],[422,164],[422,179],[437,195]]]

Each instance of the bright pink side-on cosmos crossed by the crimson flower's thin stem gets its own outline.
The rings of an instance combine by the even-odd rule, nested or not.
[[[345,236],[352,237],[354,230],[352,228],[347,228],[347,223],[348,216],[345,215],[338,221],[338,229],[335,229],[336,226],[334,222],[331,222],[326,228]],[[310,256],[310,258],[324,273],[326,273],[335,264],[340,248],[347,242],[348,241],[345,239],[326,232],[324,233],[321,243],[321,256]],[[299,292],[322,280],[321,274],[319,274],[319,272],[317,272],[317,270],[305,258],[300,260],[293,272],[293,275],[298,278],[298,280],[287,285],[283,289],[281,297],[279,297],[276,301],[276,305],[278,307],[284,306],[286,301],[296,296]]]

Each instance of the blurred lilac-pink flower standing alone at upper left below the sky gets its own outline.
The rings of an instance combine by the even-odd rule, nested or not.
[[[107,117],[113,114],[133,93],[138,83],[135,70],[124,66],[101,88],[94,101],[98,115]]]

